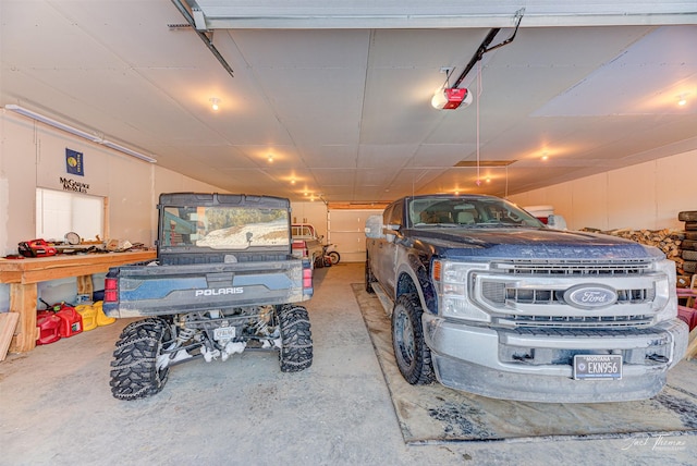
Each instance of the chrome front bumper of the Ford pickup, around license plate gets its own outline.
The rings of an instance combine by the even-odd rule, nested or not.
[[[433,369],[445,387],[484,396],[547,403],[646,400],[685,355],[680,319],[650,329],[490,329],[424,314]],[[575,380],[573,356],[622,354],[622,379]]]

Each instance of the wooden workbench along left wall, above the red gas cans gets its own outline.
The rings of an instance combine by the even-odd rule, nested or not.
[[[36,346],[38,282],[105,273],[110,267],[152,260],[156,255],[155,250],[143,250],[0,259],[0,283],[10,283],[10,311],[20,314],[10,351],[23,353]]]

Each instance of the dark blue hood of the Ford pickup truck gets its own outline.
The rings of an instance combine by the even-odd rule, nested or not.
[[[417,248],[451,258],[505,259],[649,259],[662,258],[655,247],[615,236],[529,228],[413,229],[406,233]]]

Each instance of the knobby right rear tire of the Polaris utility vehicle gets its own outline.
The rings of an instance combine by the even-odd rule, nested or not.
[[[297,372],[313,365],[313,335],[307,309],[285,305],[279,314],[281,351],[279,364],[282,372]]]

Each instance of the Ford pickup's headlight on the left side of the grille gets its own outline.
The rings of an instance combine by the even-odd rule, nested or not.
[[[438,309],[443,317],[462,320],[490,322],[491,316],[469,299],[469,274],[476,270],[486,270],[481,263],[433,260],[432,280],[438,294]]]

